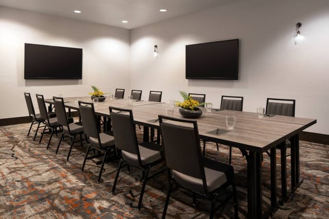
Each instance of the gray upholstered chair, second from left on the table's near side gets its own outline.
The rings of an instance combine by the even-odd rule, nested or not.
[[[56,135],[57,135],[57,128],[58,128],[57,117],[49,118],[48,113],[47,113],[45,99],[44,99],[43,95],[36,94],[36,101],[38,101],[40,116],[42,118],[42,121],[45,124],[41,137],[40,137],[40,140],[39,140],[39,143],[41,143],[43,135],[45,134],[46,129],[48,129],[50,131],[50,137],[49,137],[49,141],[47,144],[47,149],[48,149],[53,133],[56,132]]]

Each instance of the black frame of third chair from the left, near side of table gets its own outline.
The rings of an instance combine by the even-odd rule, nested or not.
[[[52,97],[52,99],[53,99],[53,102],[54,102],[54,103],[55,103],[55,101],[60,100],[60,101],[61,101],[61,105],[62,105],[62,107],[63,107],[64,110],[65,110],[64,98],[62,98],[62,97]],[[54,104],[54,105],[55,105],[55,104]],[[55,107],[55,110],[56,110],[56,107]],[[63,125],[67,126],[67,131],[68,131],[68,133],[65,133],[64,131],[62,131],[62,135],[61,135],[60,141],[58,142],[58,146],[57,146],[57,149],[56,149],[56,154],[58,153],[58,150],[59,150],[59,148],[60,148],[60,145],[61,145],[62,139],[64,139],[65,136],[70,137],[70,138],[71,138],[70,149],[69,149],[69,151],[68,151],[67,158],[66,158],[66,161],[68,161],[74,143],[80,141],[81,148],[83,147],[83,143],[82,143],[82,134],[83,134],[83,132],[76,133],[76,134],[71,133],[71,131],[70,131],[70,127],[69,127],[69,122],[68,122],[67,115],[66,115],[66,112],[65,112],[65,120],[66,120],[65,124],[60,124],[60,123],[59,123],[59,125],[61,125],[61,126],[63,126]],[[74,141],[74,140],[76,139],[77,135],[80,135],[80,140],[78,140],[78,141]]]

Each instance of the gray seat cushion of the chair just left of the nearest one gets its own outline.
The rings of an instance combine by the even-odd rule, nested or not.
[[[142,142],[138,144],[138,149],[143,166],[162,160],[163,158],[160,145],[154,142]],[[122,157],[128,163],[131,163],[131,165],[139,166],[137,154],[122,151]]]

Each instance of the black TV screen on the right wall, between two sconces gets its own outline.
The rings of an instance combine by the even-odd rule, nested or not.
[[[239,39],[186,45],[186,79],[237,80]]]

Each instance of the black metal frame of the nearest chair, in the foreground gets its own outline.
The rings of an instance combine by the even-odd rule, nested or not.
[[[184,122],[184,123],[191,123],[193,124],[193,127],[194,127],[194,136],[195,136],[195,142],[197,142],[198,144],[200,144],[200,139],[199,139],[199,134],[198,134],[198,127],[197,127],[197,121],[196,120],[185,120],[185,119],[177,119],[177,118],[173,118],[173,117],[168,117],[168,116],[161,116],[159,115],[158,116],[159,118],[159,123],[160,123],[160,126],[161,124],[163,123],[163,119],[165,120],[171,120],[171,121],[176,121],[176,122]],[[163,138],[162,138],[162,143],[163,143]],[[199,145],[200,146],[200,145]],[[200,169],[202,169],[202,165],[201,163],[203,162],[200,158],[202,158],[202,154],[201,154],[201,150],[200,150],[200,147],[198,147],[199,150],[199,163],[200,163]],[[165,147],[164,147],[164,150]],[[165,153],[166,155],[166,153]],[[166,163],[166,159],[165,159],[165,163]],[[166,166],[167,166],[167,163],[166,163]],[[214,213],[220,209],[221,207],[223,207],[229,199],[233,198],[233,201],[234,201],[234,216],[235,218],[238,218],[238,213],[237,213],[237,197],[236,197],[236,187],[235,187],[235,184],[233,182],[233,180],[230,181],[227,181],[225,182],[225,184],[223,184],[221,187],[217,188],[216,190],[212,191],[212,192],[208,192],[207,191],[207,182],[206,182],[206,176],[205,176],[205,172],[203,171],[202,172],[202,175],[203,175],[203,188],[204,188],[204,191],[205,193],[199,193],[197,191],[194,191],[194,190],[190,190],[188,188],[185,188],[181,185],[178,184],[178,182],[172,177],[172,171],[170,168],[168,168],[167,166],[167,173],[168,173],[168,190],[167,190],[167,197],[166,197],[166,202],[165,202],[165,207],[163,208],[163,212],[162,212],[162,218],[165,219],[166,217],[166,213],[167,213],[167,208],[168,208],[168,205],[169,205],[169,199],[170,199],[170,194],[171,192],[173,192],[174,190],[182,187],[184,188],[185,190],[188,190],[190,192],[192,192],[193,196],[193,206],[196,206],[196,195],[199,195],[201,197],[204,197],[204,198],[207,198],[211,201],[211,208],[210,208],[210,216],[209,218],[213,218],[214,217]],[[177,187],[175,188],[172,188],[173,187],[173,182],[176,182],[176,184],[178,184]],[[218,205],[217,207],[215,207],[215,201],[217,200],[217,197],[221,194],[222,190],[223,189],[226,189],[228,186],[232,186],[232,193],[220,204]]]

